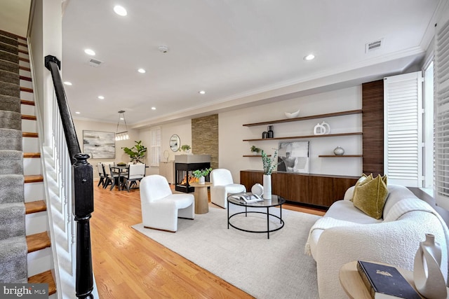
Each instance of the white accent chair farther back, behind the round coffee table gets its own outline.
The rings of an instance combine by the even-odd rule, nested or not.
[[[227,209],[227,195],[246,192],[246,187],[234,183],[232,174],[228,169],[217,168],[210,172],[210,202]]]

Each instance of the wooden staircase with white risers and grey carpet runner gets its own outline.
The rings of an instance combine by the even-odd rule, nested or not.
[[[46,283],[56,298],[27,41],[1,30],[0,118],[0,218],[8,215],[8,221],[0,222],[0,239],[5,236],[0,240],[0,281]],[[18,134],[22,138],[15,141]],[[13,185],[22,188],[12,199]],[[21,226],[20,235],[11,232]],[[22,239],[25,255],[18,245]],[[25,265],[25,273],[17,265]]]

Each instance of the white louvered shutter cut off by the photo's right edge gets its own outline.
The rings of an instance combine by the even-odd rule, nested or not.
[[[434,196],[449,209],[449,22],[436,29],[434,67]]]

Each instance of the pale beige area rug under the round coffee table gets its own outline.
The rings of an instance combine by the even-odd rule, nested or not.
[[[230,209],[243,207],[231,204]],[[279,209],[270,208],[270,213],[279,216]],[[214,204],[193,221],[179,219],[176,233],[144,228],[142,223],[133,228],[255,298],[318,298],[316,264],[304,254],[304,245],[320,217],[282,209],[282,218],[284,227],[271,232],[269,239],[266,233],[228,230],[227,210]],[[231,221],[250,230],[267,227],[262,214],[239,215]],[[270,217],[270,225],[279,225],[279,219]]]

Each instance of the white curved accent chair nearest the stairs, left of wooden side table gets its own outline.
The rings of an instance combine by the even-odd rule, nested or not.
[[[195,218],[194,195],[173,194],[165,177],[145,176],[140,181],[142,223],[145,228],[177,231],[177,218]]]

